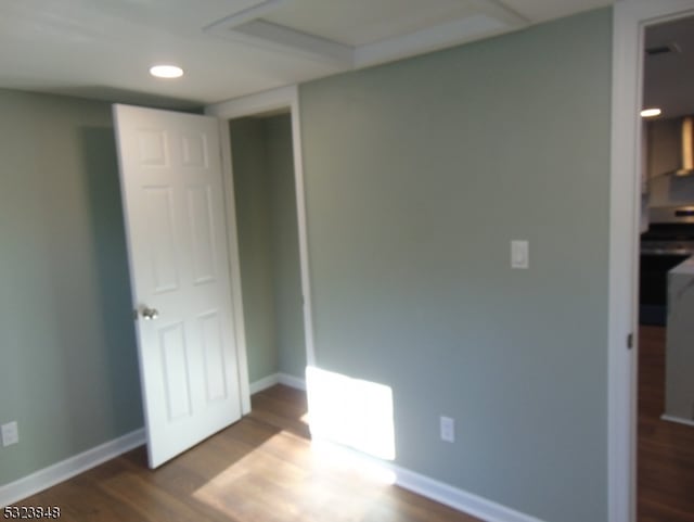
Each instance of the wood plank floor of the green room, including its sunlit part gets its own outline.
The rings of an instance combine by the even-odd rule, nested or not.
[[[20,502],[66,522],[479,522],[311,449],[306,395],[273,386],[253,413],[162,468],[138,448]]]

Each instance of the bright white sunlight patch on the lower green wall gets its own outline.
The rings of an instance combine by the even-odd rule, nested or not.
[[[311,436],[394,460],[393,390],[307,367],[306,385]]]

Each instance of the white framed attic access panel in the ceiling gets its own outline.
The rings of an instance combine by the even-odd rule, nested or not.
[[[491,0],[266,0],[206,30],[354,68],[526,25]]]

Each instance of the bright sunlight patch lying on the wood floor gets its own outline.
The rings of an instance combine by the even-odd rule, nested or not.
[[[395,482],[393,473],[365,459],[282,431],[230,463],[193,498],[239,522],[362,520],[382,509],[378,499]]]

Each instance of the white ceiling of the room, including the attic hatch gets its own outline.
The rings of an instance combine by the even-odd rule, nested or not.
[[[611,0],[2,0],[0,87],[195,106],[384,63]],[[149,76],[175,63],[183,78]]]

